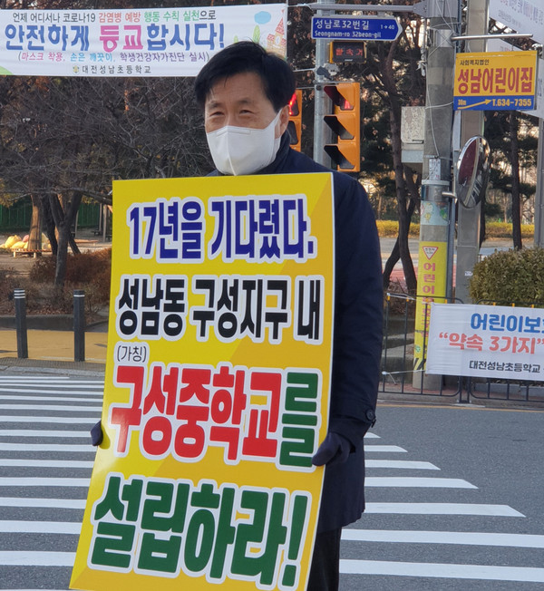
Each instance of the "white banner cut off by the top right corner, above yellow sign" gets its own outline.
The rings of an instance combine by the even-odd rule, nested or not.
[[[490,16],[516,33],[532,33],[533,41],[544,43],[542,0],[490,0]]]

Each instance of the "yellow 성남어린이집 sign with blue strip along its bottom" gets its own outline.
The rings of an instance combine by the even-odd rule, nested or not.
[[[537,52],[458,53],[453,109],[530,111],[535,108]]]

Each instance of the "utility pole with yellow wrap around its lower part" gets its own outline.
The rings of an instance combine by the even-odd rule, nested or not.
[[[422,211],[415,313],[413,386],[423,384],[425,334],[429,302],[446,297],[449,201],[442,193],[452,182],[452,102],[455,48],[452,36],[458,20],[457,0],[429,0],[430,44],[427,51],[427,91],[423,140]],[[453,221],[454,223],[454,221]],[[424,376],[434,387],[439,376]]]

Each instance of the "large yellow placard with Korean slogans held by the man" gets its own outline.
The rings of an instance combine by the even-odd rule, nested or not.
[[[71,588],[306,588],[332,175],[114,181],[102,431]]]

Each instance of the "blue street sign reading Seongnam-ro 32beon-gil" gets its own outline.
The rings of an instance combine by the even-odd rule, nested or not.
[[[356,41],[393,41],[401,34],[401,25],[393,16],[314,16],[312,39],[352,39]]]

